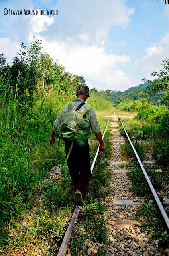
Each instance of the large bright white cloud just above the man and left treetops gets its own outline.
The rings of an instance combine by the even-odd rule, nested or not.
[[[130,85],[128,74],[114,70],[117,63],[129,62],[130,56],[106,54],[104,46],[77,44],[70,38],[66,42],[48,42],[43,39],[42,44],[44,50],[58,59],[67,70],[85,76],[90,88],[93,87],[93,82],[99,89],[105,89],[105,86],[119,88],[120,85]]]

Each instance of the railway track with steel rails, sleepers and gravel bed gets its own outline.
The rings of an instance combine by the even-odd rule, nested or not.
[[[136,211],[141,207],[142,204],[145,203],[145,201],[144,201],[144,198],[140,198],[128,192],[128,188],[130,187],[130,182],[126,176],[127,170],[122,167],[124,166],[124,162],[122,161],[121,149],[120,149],[120,144],[124,143],[127,139],[124,138],[124,136],[120,136],[120,130],[118,129],[118,116],[114,115],[113,118],[114,118],[114,121],[111,123],[112,133],[114,134],[112,138],[113,156],[112,156],[112,159],[109,160],[109,168],[113,174],[112,182],[110,183],[110,189],[112,190],[112,192],[106,198],[106,200],[102,202],[106,207],[106,214],[108,214],[109,216],[107,220],[107,225],[109,230],[107,234],[108,242],[106,242],[106,244],[103,244],[99,242],[95,243],[94,241],[90,241],[89,239],[86,240],[83,243],[83,248],[86,250],[86,254],[84,255],[96,254],[97,250],[99,248],[102,248],[105,251],[106,256],[109,256],[109,255],[112,255],[112,256],[114,255],[159,256],[161,254],[157,247],[156,241],[153,238],[149,237],[146,232],[141,232],[141,227],[140,227],[141,224],[138,223],[135,219]],[[104,131],[104,134],[105,132],[106,132],[106,129]],[[103,137],[104,137],[104,134],[103,134]],[[127,133],[126,135],[128,137]],[[128,140],[130,141],[129,137],[128,137]],[[97,150],[96,156],[94,158],[94,161],[91,167],[91,172],[94,168],[94,164],[98,156],[98,151],[99,150]],[[145,178],[147,179],[147,182],[151,188],[155,201],[159,206],[159,209],[164,218],[165,224],[169,228],[169,218],[167,217],[167,214],[165,213],[165,210],[157,196],[157,193],[155,192],[153,185],[151,184],[151,181],[149,180],[149,177],[146,174],[145,168],[143,167],[143,164],[141,163],[140,158],[137,155],[137,152],[135,152],[135,154],[140,164],[140,167],[143,170]],[[65,237],[61,244],[60,250],[57,254],[58,256],[64,256],[66,253],[67,246],[69,244],[69,239],[71,237],[71,232],[73,230],[73,226],[79,214],[79,207],[80,206],[76,206],[75,208],[75,211],[69,223],[68,229],[65,233]],[[143,221],[143,218],[140,221]]]

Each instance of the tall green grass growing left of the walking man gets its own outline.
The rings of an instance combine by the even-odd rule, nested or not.
[[[63,159],[63,146],[57,155],[48,145],[52,123],[65,103],[66,95],[52,90],[34,102],[20,104],[0,80],[0,222],[17,214],[16,205],[32,203],[36,186],[54,164]]]

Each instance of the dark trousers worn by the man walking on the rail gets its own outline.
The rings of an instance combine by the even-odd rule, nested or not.
[[[66,156],[71,144],[65,142]],[[69,173],[75,190],[80,190],[84,196],[88,190],[90,179],[90,154],[88,141],[85,146],[73,145],[71,154],[67,160]]]

